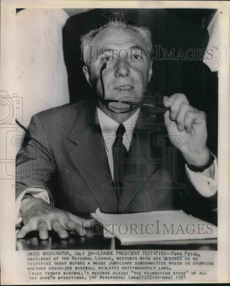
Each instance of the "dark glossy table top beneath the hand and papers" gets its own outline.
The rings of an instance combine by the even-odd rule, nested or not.
[[[193,239],[177,241],[152,241],[148,243],[122,244],[116,238],[104,238],[102,234],[92,234],[86,230],[86,236],[70,233],[67,239],[60,239],[49,231],[49,239],[39,239],[38,232],[32,231],[23,239],[16,239],[16,250],[45,249],[171,249],[171,250],[217,250],[217,239]]]

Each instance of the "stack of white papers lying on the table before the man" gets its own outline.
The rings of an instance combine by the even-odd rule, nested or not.
[[[106,237],[121,243],[217,238],[217,227],[187,215],[183,210],[111,215],[91,213],[102,224]]]

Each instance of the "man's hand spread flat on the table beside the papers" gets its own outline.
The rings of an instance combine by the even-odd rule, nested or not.
[[[40,198],[24,198],[21,201],[21,214],[24,226],[17,233],[17,238],[23,238],[30,231],[37,230],[40,239],[48,239],[48,231],[55,231],[60,238],[68,237],[67,231],[74,231],[78,235],[86,235],[84,227],[91,227],[92,220],[82,219],[70,212],[60,210]]]

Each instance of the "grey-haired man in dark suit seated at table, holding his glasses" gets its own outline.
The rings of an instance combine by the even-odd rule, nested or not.
[[[82,234],[76,214],[98,207],[107,212],[185,209],[194,215],[215,208],[217,163],[206,146],[205,114],[184,94],[164,98],[164,117],[144,111],[154,110],[143,104],[152,76],[145,53],[152,48],[150,31],[115,15],[81,40],[83,72],[95,101],[32,117],[31,140],[17,157],[16,196],[24,224],[17,237],[33,230],[41,239],[48,238],[48,230],[60,238],[68,231]],[[158,124],[160,116],[165,126]]]

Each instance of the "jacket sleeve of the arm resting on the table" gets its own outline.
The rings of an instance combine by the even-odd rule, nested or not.
[[[16,198],[27,188],[42,188],[47,190],[53,201],[51,190],[55,162],[39,115],[32,117],[28,131],[29,136],[25,136],[16,157]]]

